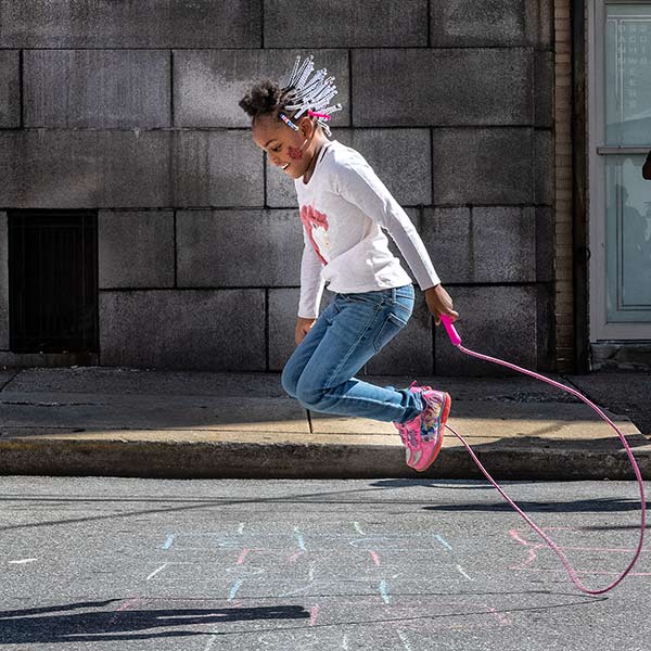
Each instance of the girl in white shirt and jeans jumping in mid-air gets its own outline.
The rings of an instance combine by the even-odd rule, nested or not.
[[[289,80],[263,81],[239,105],[255,143],[294,179],[305,246],[296,349],[283,388],[307,409],[392,421],[407,464],[426,470],[441,449],[450,396],[414,383],[376,386],[355,378],[405,326],[413,310],[411,279],[388,250],[386,230],[425,295],[435,322],[458,318],[427,251],[405,210],[356,150],[330,140],[328,120],[341,104],[334,77],[296,58]],[[383,230],[384,229],[384,230]],[[319,316],[323,288],[333,302]],[[318,318],[317,318],[318,317]]]

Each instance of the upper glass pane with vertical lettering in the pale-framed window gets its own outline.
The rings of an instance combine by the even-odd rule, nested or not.
[[[649,4],[607,4],[605,141],[651,144]]]

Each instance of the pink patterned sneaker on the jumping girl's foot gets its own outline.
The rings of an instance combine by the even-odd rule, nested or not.
[[[452,399],[449,394],[434,391],[431,386],[414,385],[416,382],[411,384],[409,391],[422,394],[425,408],[410,421],[394,422],[394,425],[405,445],[407,465],[423,472],[432,465],[441,451],[443,432]]]

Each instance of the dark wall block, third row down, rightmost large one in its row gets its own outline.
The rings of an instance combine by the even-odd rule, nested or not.
[[[532,129],[435,129],[434,204],[534,203]]]

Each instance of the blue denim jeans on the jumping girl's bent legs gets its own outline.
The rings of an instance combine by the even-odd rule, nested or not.
[[[407,326],[413,288],[335,294],[282,371],[282,386],[307,409],[404,423],[422,398],[355,378],[363,365]]]

